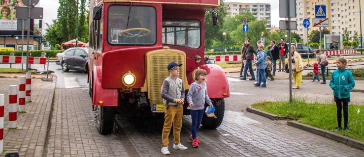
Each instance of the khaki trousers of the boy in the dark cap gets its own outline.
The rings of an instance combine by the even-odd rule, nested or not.
[[[182,128],[183,105],[170,105],[165,109],[165,123],[162,131],[162,147],[168,147],[169,132],[173,124],[173,143],[180,143],[180,134]]]

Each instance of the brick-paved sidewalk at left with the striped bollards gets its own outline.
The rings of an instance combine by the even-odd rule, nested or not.
[[[19,75],[21,76],[21,75]],[[25,75],[24,75],[25,76]],[[6,153],[18,152],[20,157],[41,157],[50,118],[55,82],[32,78],[32,101],[26,104],[27,113],[17,114],[17,129],[8,130],[9,85],[17,85],[19,78],[0,78],[0,93],[5,94],[4,103],[4,149]]]

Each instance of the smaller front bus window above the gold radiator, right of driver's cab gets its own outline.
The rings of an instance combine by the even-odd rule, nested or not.
[[[198,20],[165,20],[163,21],[162,43],[199,48],[200,29]]]

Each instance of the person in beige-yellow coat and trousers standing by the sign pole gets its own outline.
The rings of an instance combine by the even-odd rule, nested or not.
[[[293,89],[298,89],[302,85],[302,71],[303,61],[301,55],[296,51],[296,47],[291,47],[292,52],[292,76],[293,76]]]

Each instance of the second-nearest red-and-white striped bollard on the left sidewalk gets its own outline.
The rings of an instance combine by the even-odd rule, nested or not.
[[[16,128],[16,102],[17,102],[17,95],[16,95],[16,85],[9,85],[9,129]]]

